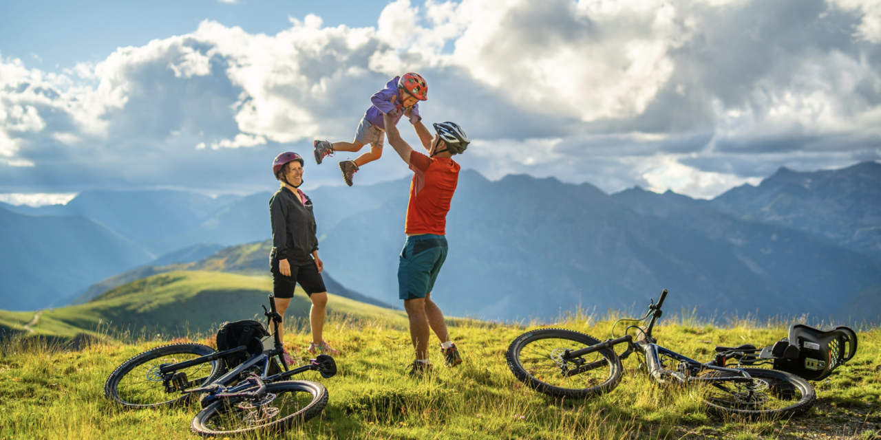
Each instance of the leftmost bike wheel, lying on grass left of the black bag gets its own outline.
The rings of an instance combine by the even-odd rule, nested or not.
[[[214,349],[202,344],[171,344],[144,351],[116,368],[107,378],[104,395],[130,408],[159,407],[182,403],[189,394],[167,392],[159,373],[163,363],[179,363],[211,355]],[[226,372],[223,361],[211,361],[181,369],[193,387],[208,385]]]

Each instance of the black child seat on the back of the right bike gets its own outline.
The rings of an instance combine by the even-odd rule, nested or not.
[[[787,371],[808,380],[820,380],[856,354],[856,333],[847,326],[828,332],[793,324],[788,338],[762,350],[759,357],[774,359],[774,370]]]

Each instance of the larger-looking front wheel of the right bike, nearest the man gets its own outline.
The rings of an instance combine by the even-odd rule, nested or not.
[[[588,334],[548,328],[518,336],[507,348],[515,378],[556,398],[586,399],[610,392],[621,380],[621,360],[611,348],[573,359],[568,351],[600,343]]]

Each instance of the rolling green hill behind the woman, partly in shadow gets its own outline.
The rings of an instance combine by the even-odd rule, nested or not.
[[[206,332],[218,323],[251,319],[260,304],[269,306],[270,276],[208,271],[176,271],[152,275],[123,284],[86,304],[41,312],[33,326],[35,334],[70,338],[86,332],[115,335],[167,334],[172,337]],[[285,316],[305,318],[311,303],[297,289]],[[393,325],[405,323],[403,312],[329,294],[328,312],[359,318],[385,319]],[[0,328],[20,330],[32,313],[0,312]]]

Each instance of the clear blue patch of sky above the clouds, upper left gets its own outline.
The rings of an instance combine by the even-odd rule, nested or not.
[[[322,17],[325,26],[363,27],[375,26],[386,4],[387,0],[4,2],[0,50],[5,57],[54,70],[99,62],[120,46],[143,46],[150,40],[193,32],[204,19],[240,26],[248,33],[278,33],[291,26],[288,17],[310,13]]]

